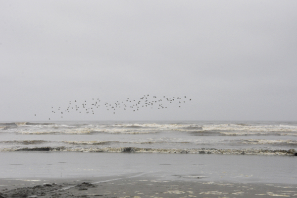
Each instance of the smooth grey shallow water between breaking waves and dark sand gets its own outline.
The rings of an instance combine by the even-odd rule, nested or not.
[[[73,178],[145,173],[164,180],[297,183],[295,156],[0,152],[0,178]]]

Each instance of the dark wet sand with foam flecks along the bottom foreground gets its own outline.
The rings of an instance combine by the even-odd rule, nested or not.
[[[1,179],[0,198],[271,198],[297,197],[297,185],[163,180],[142,174],[69,179]]]

